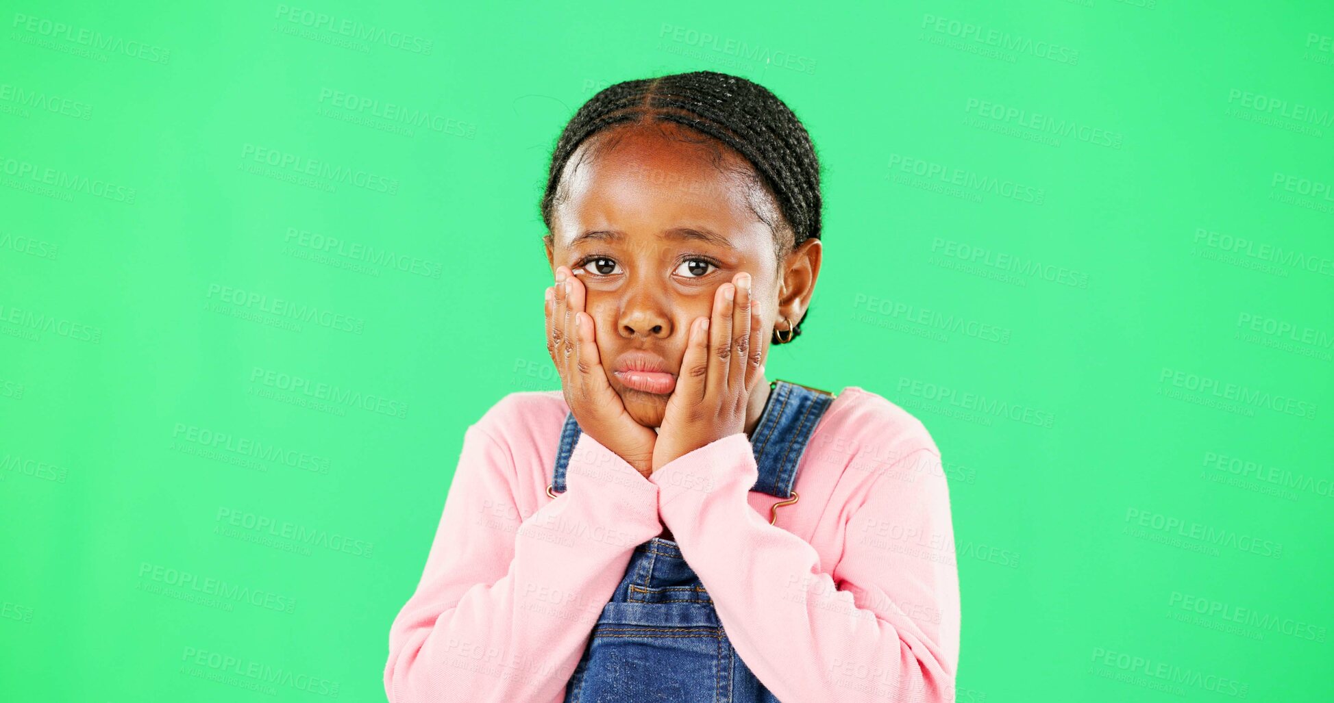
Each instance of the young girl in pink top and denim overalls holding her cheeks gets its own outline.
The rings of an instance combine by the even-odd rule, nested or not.
[[[871,391],[764,378],[820,268],[796,116],[708,71],[611,85],[560,135],[542,215],[562,390],[467,428],[390,700],[952,700],[930,434]]]

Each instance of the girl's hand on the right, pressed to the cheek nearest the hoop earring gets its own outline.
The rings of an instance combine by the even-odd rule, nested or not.
[[[750,273],[738,273],[714,291],[711,319],[692,321],[676,388],[667,399],[654,443],[654,471],[746,430],[750,392],[767,356],[759,315],[751,309],[750,285]]]

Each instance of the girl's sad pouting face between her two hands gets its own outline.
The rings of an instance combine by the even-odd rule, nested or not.
[[[771,196],[732,173],[752,169],[744,159],[663,132],[700,139],[676,125],[620,127],[582,144],[562,173],[567,197],[552,212],[547,243],[552,273],[558,265],[584,269],[578,277],[587,288],[586,309],[607,380],[646,427],[662,424],[670,394],[622,383],[616,371],[627,352],[660,356],[666,371],[679,375],[691,321],[710,316],[714,292],[740,271],[751,275],[751,299],[768,344],[779,315],[800,319],[815,275],[806,265],[798,267],[806,276],[779,280],[774,231],[760,215],[775,227],[782,216]],[[595,140],[602,145],[590,155]],[[724,169],[714,163],[719,157]],[[818,240],[808,243],[816,244],[818,269]],[[796,308],[780,309],[780,288],[783,297],[796,299]],[[767,382],[756,379],[751,398],[763,402],[767,391]],[[748,416],[758,418],[760,410],[751,408]]]

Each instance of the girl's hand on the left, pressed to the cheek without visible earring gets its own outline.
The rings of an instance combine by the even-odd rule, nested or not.
[[[584,292],[583,281],[570,267],[556,268],[556,284],[546,292],[547,354],[556,364],[566,404],[579,428],[647,479],[652,474],[658,434],[630,416],[607,380],[594,320],[584,312]]]

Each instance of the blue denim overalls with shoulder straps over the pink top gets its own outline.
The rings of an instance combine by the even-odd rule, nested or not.
[[[751,491],[800,498],[796,464],[820,415],[835,394],[775,380],[759,424],[750,436],[759,479]],[[566,416],[555,480],[564,492],[566,466],[579,439],[574,414]],[[719,535],[719,539],[727,539]],[[652,538],[635,547],[626,575],[594,626],[579,666],[566,684],[564,703],[779,703],[736,656],[699,576],[676,542]]]

